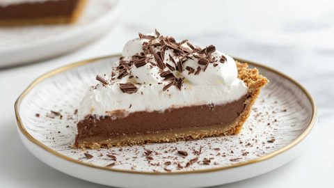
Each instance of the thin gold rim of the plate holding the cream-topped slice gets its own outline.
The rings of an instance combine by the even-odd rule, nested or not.
[[[310,93],[303,87],[301,86],[301,84],[299,84],[297,81],[295,81],[294,79],[292,79],[291,77],[283,74],[282,72],[279,72],[278,70],[274,70],[273,68],[269,68],[266,65],[260,65],[259,63],[254,63],[251,61],[245,61],[244,59],[241,58],[234,58],[235,60],[241,62],[241,63],[248,63],[249,65],[252,65],[254,67],[257,68],[263,68],[266,70],[269,70],[270,72],[274,72],[277,75],[280,75],[281,77],[284,77],[285,79],[288,79],[289,81],[292,81],[292,83],[296,84],[296,86],[298,86],[301,91],[303,91],[303,93],[305,93],[306,97],[308,97],[308,100],[310,100],[311,106],[312,106],[312,118],[310,120],[310,123],[308,124],[308,127],[306,127],[306,129],[303,131],[303,133],[301,133],[296,139],[294,139],[294,141],[292,141],[292,143],[289,143],[287,146],[284,146],[283,148],[280,148],[279,150],[276,150],[275,152],[271,152],[268,155],[264,155],[260,158],[257,159],[252,159],[249,160],[247,162],[241,162],[238,164],[232,164],[230,166],[223,166],[223,167],[218,167],[218,168],[214,168],[214,169],[202,169],[202,170],[195,170],[195,171],[180,171],[180,172],[145,172],[145,171],[129,171],[129,170],[120,170],[120,169],[111,169],[108,167],[104,167],[104,166],[96,166],[93,164],[88,164],[85,162],[81,162],[77,159],[72,159],[70,157],[67,157],[66,155],[63,155],[59,152],[56,152],[56,150],[52,150],[51,148],[45,146],[45,144],[41,143],[40,141],[36,140],[35,138],[33,138],[33,136],[31,136],[31,134],[29,134],[29,132],[26,131],[26,129],[24,128],[21,118],[19,117],[19,105],[21,104],[22,100],[24,99],[24,97],[29,93],[29,91],[31,91],[36,85],[38,85],[41,81],[56,75],[58,73],[64,72],[65,70],[70,70],[72,68],[77,68],[81,65],[86,65],[88,63],[94,63],[95,61],[98,60],[102,60],[105,58],[115,58],[120,56],[120,54],[116,54],[116,55],[111,55],[111,56],[103,56],[103,57],[99,57],[99,58],[90,58],[84,61],[79,61],[77,63],[71,63],[69,65],[65,65],[61,68],[56,68],[55,70],[51,70],[50,72],[45,73],[44,75],[38,77],[37,79],[35,79],[24,91],[21,95],[19,95],[19,97],[17,98],[16,102],[15,102],[15,116],[16,116],[16,120],[17,120],[17,126],[19,127],[19,131],[22,132],[22,134],[24,134],[24,136],[26,136],[27,139],[29,139],[29,141],[31,141],[32,143],[35,143],[36,145],[42,147],[43,149],[47,150],[47,152],[50,152],[53,155],[56,155],[57,157],[61,157],[62,159],[66,159],[67,161],[70,162],[74,162],[76,164],[82,164],[84,166],[89,166],[92,168],[96,168],[96,169],[103,169],[103,170],[107,170],[107,171],[113,171],[113,172],[119,172],[119,173],[139,173],[139,174],[148,174],[148,175],[175,175],[175,174],[187,174],[187,173],[208,173],[208,172],[214,172],[214,171],[221,171],[221,170],[225,170],[225,169],[231,169],[231,168],[235,168],[238,166],[245,166],[247,164],[253,164],[253,163],[257,163],[257,162],[262,162],[264,160],[270,159],[271,157],[275,157],[276,155],[279,155],[282,152],[285,152],[286,150],[289,150],[290,148],[296,146],[298,143],[300,143],[303,139],[305,139],[306,136],[308,136],[308,134],[310,133],[310,131],[312,130],[312,127],[314,127],[316,120],[317,120],[317,107],[315,104],[315,100],[313,100],[312,96],[310,95]]]

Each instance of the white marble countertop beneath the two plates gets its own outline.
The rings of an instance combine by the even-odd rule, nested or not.
[[[57,58],[0,70],[0,187],[104,187],[72,178],[33,157],[19,140],[13,105],[38,75],[74,61],[121,52],[138,31],[155,28],[285,72],[317,102],[319,122],[300,157],[264,175],[220,187],[334,187],[333,2],[191,2],[193,6],[177,0],[163,4],[122,1],[120,24],[90,45]]]

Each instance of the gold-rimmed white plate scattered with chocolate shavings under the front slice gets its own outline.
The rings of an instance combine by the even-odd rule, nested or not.
[[[63,173],[103,185],[207,187],[276,169],[307,145],[317,118],[312,97],[282,73],[250,63],[270,83],[241,134],[101,150],[71,148],[77,132],[75,109],[88,86],[97,84],[95,76],[110,72],[118,57],[58,68],[36,79],[22,93],[15,104],[18,132],[33,155]],[[51,110],[59,111],[62,118],[54,117]],[[146,150],[152,151],[152,158],[145,155]],[[178,150],[189,155],[182,157]],[[115,156],[116,161],[107,155]],[[187,166],[189,161],[193,164]]]

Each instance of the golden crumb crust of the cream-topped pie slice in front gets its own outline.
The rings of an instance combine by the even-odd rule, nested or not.
[[[233,123],[227,126],[212,125],[209,127],[195,127],[157,132],[152,134],[136,134],[120,136],[118,138],[104,139],[94,138],[91,140],[77,141],[74,143],[76,148],[110,148],[112,146],[132,146],[144,143],[161,143],[173,141],[187,141],[202,139],[209,136],[225,136],[238,134],[241,131],[246,119],[250,115],[251,107],[256,98],[260,95],[260,90],[268,83],[268,79],[260,75],[256,68],[248,68],[247,63],[237,62],[238,78],[243,80],[248,87],[248,97],[245,101],[246,107]]]

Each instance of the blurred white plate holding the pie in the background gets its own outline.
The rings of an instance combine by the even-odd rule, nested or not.
[[[75,24],[0,27],[0,68],[78,49],[113,29],[119,15],[117,0],[90,0]]]

